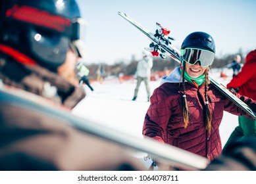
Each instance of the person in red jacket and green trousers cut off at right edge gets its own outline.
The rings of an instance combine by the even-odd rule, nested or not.
[[[227,88],[238,89],[240,95],[256,100],[256,50],[251,51],[245,58],[241,72],[232,78]],[[226,145],[243,137],[256,137],[256,121],[238,116],[239,125],[234,129]]]

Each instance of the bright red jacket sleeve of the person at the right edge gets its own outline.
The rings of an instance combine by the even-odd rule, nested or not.
[[[227,88],[238,88],[246,83],[253,75],[255,75],[256,67],[255,64],[245,64],[241,72],[232,78],[230,83],[226,85]]]

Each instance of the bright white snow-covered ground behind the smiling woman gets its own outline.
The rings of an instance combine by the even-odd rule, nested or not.
[[[224,72],[228,76],[232,76],[232,70]],[[231,77],[220,78],[219,70],[211,70],[210,76],[223,85],[226,85],[231,79]],[[85,86],[87,96],[74,108],[72,113],[142,139],[143,120],[149,107],[144,83],[141,83],[136,101],[132,101],[136,80],[119,83],[117,79],[113,79],[103,81],[103,83],[94,82],[91,85],[94,91],[91,92]],[[151,81],[151,92],[158,86],[159,81]],[[238,117],[224,112],[220,126],[222,146],[236,126],[238,126]]]

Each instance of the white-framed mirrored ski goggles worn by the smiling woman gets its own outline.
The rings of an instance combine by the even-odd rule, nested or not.
[[[181,49],[182,60],[188,62],[188,64],[196,64],[200,62],[203,67],[213,64],[215,53],[203,49],[186,48]]]

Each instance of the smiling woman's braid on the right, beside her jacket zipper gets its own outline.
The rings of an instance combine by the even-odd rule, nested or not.
[[[209,81],[209,68],[205,70],[205,129],[207,129],[208,133],[211,133],[211,112],[209,110],[209,100],[208,100],[208,95],[207,95],[207,87],[208,84],[210,83]]]

